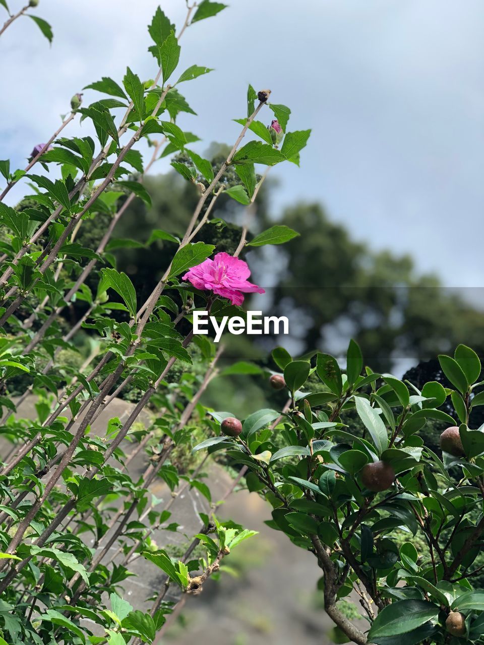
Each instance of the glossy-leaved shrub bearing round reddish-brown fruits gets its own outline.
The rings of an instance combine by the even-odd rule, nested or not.
[[[214,413],[221,435],[196,450],[240,464],[272,506],[267,524],[315,556],[336,642],[484,642],[484,590],[472,586],[484,537],[484,428],[469,427],[484,404],[476,353],[441,355],[453,389],[433,381],[421,391],[363,370],[354,341],[346,373],[324,353],[310,362],[277,348],[272,358],[283,410],[243,422]],[[455,418],[441,409],[449,404]],[[441,423],[441,455],[419,437],[427,421]],[[367,624],[348,619],[348,597]]]

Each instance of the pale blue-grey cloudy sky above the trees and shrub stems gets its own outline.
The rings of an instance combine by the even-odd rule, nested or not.
[[[25,0],[8,0],[18,10]],[[72,94],[126,65],[156,74],[147,53],[152,0],[41,0],[52,47],[23,17],[0,37],[0,159],[23,167],[54,132]],[[481,0],[232,0],[181,41],[180,71],[216,69],[180,90],[204,143],[233,143],[247,84],[312,128],[301,168],[274,169],[274,214],[319,200],[374,248],[411,252],[449,286],[484,286],[484,3]],[[177,25],[184,0],[161,6]],[[6,14],[0,6],[0,19]],[[86,102],[100,98],[88,91]],[[270,121],[268,110],[263,114]],[[87,134],[72,124],[66,135]],[[194,146],[195,147],[195,146]],[[158,168],[163,170],[163,164]],[[10,203],[21,193],[12,190]]]

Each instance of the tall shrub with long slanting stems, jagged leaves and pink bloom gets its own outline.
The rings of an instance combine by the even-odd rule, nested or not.
[[[227,159],[212,164],[192,150],[198,137],[179,121],[195,113],[179,86],[211,70],[194,64],[176,75],[179,38],[224,8],[209,0],[188,6],[179,32],[157,8],[148,26],[154,81],[129,67],[119,83],[103,76],[72,97],[25,168],[0,161],[0,645],[153,642],[183,595],[199,593],[254,534],[217,520],[205,460],[192,455],[217,427],[200,397],[219,377],[221,351],[194,337],[190,321],[197,308],[240,315],[243,294],[263,290],[247,281],[238,259],[246,227],[233,256],[198,236],[221,195],[252,210],[266,176],[256,175],[256,164],[297,164],[309,131],[287,132],[289,108],[249,86]],[[86,104],[93,91],[101,99]],[[83,121],[82,137],[68,137],[75,119]],[[160,279],[143,303],[112,255],[139,243],[113,233],[132,201],[150,205],[143,174],[167,155],[176,155],[172,167],[196,186],[198,200],[181,239],[152,232],[150,239],[170,241],[176,252],[160,257]],[[22,183],[25,199],[7,205]],[[77,234],[94,217],[108,224],[88,248]],[[294,235],[274,226],[252,245]],[[79,319],[70,324],[74,302]],[[128,390],[134,403],[126,415],[101,424],[99,415]],[[36,416],[24,419],[29,395]],[[161,482],[168,501],[154,494]],[[205,498],[191,534],[174,506],[187,489]],[[152,597],[145,590],[148,599],[133,595],[130,604],[126,590],[141,558],[158,577]]]

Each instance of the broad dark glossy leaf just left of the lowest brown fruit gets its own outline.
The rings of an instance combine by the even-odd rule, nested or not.
[[[382,636],[398,636],[435,619],[440,608],[427,600],[399,600],[379,611],[368,632],[368,642]]]

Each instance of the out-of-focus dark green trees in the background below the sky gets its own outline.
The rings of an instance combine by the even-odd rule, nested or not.
[[[217,169],[227,150],[212,144],[207,156]],[[223,181],[239,183],[229,168]],[[152,208],[135,200],[117,226],[116,237],[146,244],[153,228],[177,235],[190,218],[197,201],[197,186],[176,172],[146,177]],[[257,199],[257,231],[272,226],[268,203],[274,183],[267,181]],[[259,199],[260,198],[260,199]],[[220,213],[233,226],[217,222]],[[210,239],[217,250],[233,253],[240,235],[244,207],[222,195],[212,212],[212,224],[202,230],[199,241]],[[254,224],[254,221],[252,224]],[[435,275],[421,275],[408,255],[388,250],[374,252],[352,239],[341,224],[330,221],[323,206],[298,203],[277,219],[300,233],[284,248],[263,247],[252,253],[254,281],[268,289],[272,312],[290,313],[291,333],[297,348],[305,353],[316,348],[338,354],[348,339],[356,339],[367,364],[375,370],[401,370],[409,364],[447,351],[459,342],[484,351],[481,329],[484,313],[455,291],[444,288]],[[86,221],[79,234],[101,236],[102,218]],[[87,244],[86,244],[87,245]],[[139,299],[152,290],[174,251],[174,244],[156,240],[143,248],[119,248],[117,266],[134,282]],[[259,351],[247,337],[230,339],[237,355],[256,360]],[[245,347],[245,349],[244,349]],[[267,339],[265,349],[267,348]],[[264,352],[260,352],[263,355]],[[230,357],[231,353],[228,352]],[[343,356],[343,351],[341,352]]]

